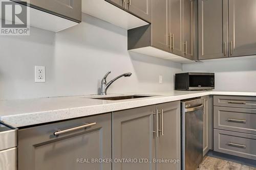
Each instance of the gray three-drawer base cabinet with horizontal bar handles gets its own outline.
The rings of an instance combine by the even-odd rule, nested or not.
[[[214,151],[256,160],[254,96],[214,95]]]

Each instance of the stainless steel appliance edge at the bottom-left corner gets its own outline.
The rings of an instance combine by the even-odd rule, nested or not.
[[[17,129],[0,123],[0,169],[17,169]]]

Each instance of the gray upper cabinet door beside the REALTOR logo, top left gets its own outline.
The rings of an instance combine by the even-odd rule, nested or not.
[[[81,22],[81,0],[22,0],[31,7]]]

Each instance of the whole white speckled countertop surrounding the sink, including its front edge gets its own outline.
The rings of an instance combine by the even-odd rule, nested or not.
[[[154,96],[119,101],[91,99],[97,98],[100,95],[4,100],[0,101],[0,120],[10,126],[19,128],[117,110],[196,98],[210,94],[256,96],[256,92],[235,91],[165,91],[136,94]],[[132,95],[132,93],[110,94],[106,96],[120,95]]]

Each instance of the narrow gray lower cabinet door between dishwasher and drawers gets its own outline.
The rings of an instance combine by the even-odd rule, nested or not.
[[[203,156],[209,150],[213,150],[213,105],[212,96],[203,96],[204,114],[203,114]]]

